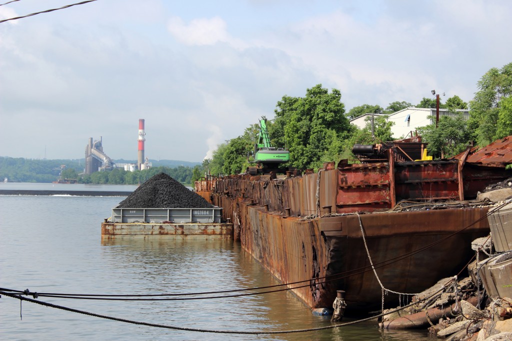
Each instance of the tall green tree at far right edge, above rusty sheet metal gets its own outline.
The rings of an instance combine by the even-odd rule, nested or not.
[[[485,146],[495,140],[498,134],[500,104],[512,95],[512,62],[501,69],[487,71],[477,84],[478,92],[470,101],[468,126],[478,145]]]

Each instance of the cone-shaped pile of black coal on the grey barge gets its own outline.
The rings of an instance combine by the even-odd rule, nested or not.
[[[165,173],[144,182],[117,208],[210,208],[203,197]]]

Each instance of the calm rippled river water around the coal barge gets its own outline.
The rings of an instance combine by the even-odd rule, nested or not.
[[[95,186],[94,190],[98,188],[126,190],[110,186]],[[110,217],[111,208],[123,199],[0,196],[0,287],[37,292],[144,294],[279,284],[239,243],[231,241],[119,238],[102,242],[101,222]],[[290,292],[159,302],[50,297],[38,300],[124,319],[196,329],[264,332],[331,325],[328,317],[314,316]],[[177,331],[126,324],[30,302],[23,302],[20,310],[19,301],[5,295],[0,299],[0,321],[2,340],[431,339],[425,331],[381,331],[375,322],[273,335]]]

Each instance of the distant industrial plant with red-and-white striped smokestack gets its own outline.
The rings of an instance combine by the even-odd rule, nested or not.
[[[138,134],[138,150],[137,150],[137,164],[131,163],[118,163],[116,164],[108,155],[103,152],[102,137],[98,140],[89,138],[89,143],[86,145],[86,168],[84,169],[85,174],[92,174],[95,172],[112,171],[114,168],[124,168],[125,171],[133,172],[152,167],[152,163],[149,162],[148,158],[144,160],[144,119],[139,119],[139,134]]]

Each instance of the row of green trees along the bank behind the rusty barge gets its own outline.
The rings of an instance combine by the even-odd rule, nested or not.
[[[485,146],[490,142],[512,135],[512,63],[501,69],[492,68],[477,82],[478,91],[469,102],[454,95],[440,108],[453,115],[442,116],[438,127],[434,124],[415,127],[423,141],[429,143],[429,154],[435,158],[451,157],[465,150],[468,145]],[[388,115],[415,106],[436,108],[436,99],[423,97],[413,105],[406,101],[394,101],[387,108],[380,105],[362,104],[346,112],[341,101],[342,93],[329,91],[317,84],[307,89],[303,97],[283,96],[276,104],[274,119],[267,121],[271,143],[275,147],[287,147],[290,151],[288,166],[299,169],[318,168],[324,162],[353,159],[355,143],[372,144],[403,138],[393,136],[393,122]],[[464,119],[457,109],[468,109],[470,118]],[[370,122],[364,129],[350,124],[350,119],[367,113],[381,114],[374,120],[372,138]],[[209,171],[212,175],[228,175],[245,172],[253,165],[252,152],[258,138],[259,124],[248,126],[235,138],[217,146],[211,159],[197,166],[197,174]],[[194,180],[194,177],[193,177]]]

